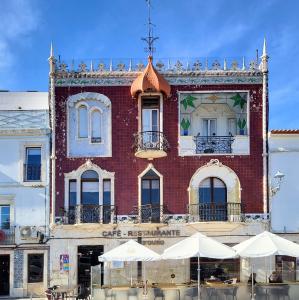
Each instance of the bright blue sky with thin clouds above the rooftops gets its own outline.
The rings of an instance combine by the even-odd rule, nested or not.
[[[48,89],[65,58],[144,57],[145,0],[0,0],[0,89]],[[156,57],[270,56],[270,128],[299,128],[299,1],[152,0]]]

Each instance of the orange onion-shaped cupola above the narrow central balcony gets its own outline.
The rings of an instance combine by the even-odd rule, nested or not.
[[[131,95],[134,98],[138,93],[150,92],[163,93],[166,97],[170,96],[170,85],[154,68],[152,56],[148,57],[146,68],[131,85]]]

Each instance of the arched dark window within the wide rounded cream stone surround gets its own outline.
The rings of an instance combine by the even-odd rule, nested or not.
[[[199,184],[198,212],[203,221],[227,220],[227,191],[222,180],[209,177]]]

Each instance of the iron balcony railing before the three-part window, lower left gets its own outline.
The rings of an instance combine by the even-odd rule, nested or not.
[[[114,205],[76,205],[64,212],[65,224],[115,223],[117,218]]]

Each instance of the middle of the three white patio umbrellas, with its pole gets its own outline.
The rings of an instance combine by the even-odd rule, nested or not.
[[[184,259],[197,256],[197,289],[198,299],[200,299],[200,257],[208,258],[232,258],[236,257],[236,252],[210,237],[205,236],[199,232],[192,236],[183,239],[182,241],[174,244],[173,246],[164,250],[161,255],[162,259]]]

